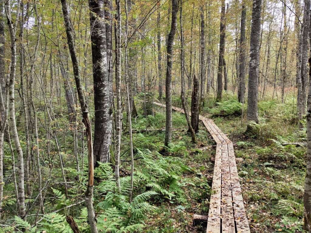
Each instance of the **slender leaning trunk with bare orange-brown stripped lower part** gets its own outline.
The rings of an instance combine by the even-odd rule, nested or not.
[[[80,76],[79,70],[79,62],[76,55],[76,49],[74,46],[74,37],[73,37],[73,27],[70,20],[69,8],[67,4],[67,0],[61,0],[62,2],[62,10],[64,16],[64,23],[67,34],[67,44],[70,52],[70,57],[72,61],[73,74],[76,81],[77,93],[79,97],[81,112],[83,123],[86,127],[86,138],[87,138],[87,150],[88,150],[88,183],[87,189],[85,192],[85,203],[88,214],[88,220],[91,227],[92,233],[98,233],[96,226],[96,217],[93,208],[93,185],[94,185],[94,161],[93,161],[93,144],[92,144],[92,129],[91,129],[91,121],[89,119],[89,108],[86,102],[86,98],[83,93],[83,86]],[[92,9],[92,2],[89,2],[90,9]]]

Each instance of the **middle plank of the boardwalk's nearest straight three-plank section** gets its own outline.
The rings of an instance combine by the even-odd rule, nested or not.
[[[221,216],[222,232],[235,232],[228,144],[222,145]]]

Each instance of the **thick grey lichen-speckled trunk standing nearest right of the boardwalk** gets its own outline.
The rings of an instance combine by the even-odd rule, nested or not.
[[[247,121],[258,123],[259,38],[262,0],[253,1],[248,74]]]

